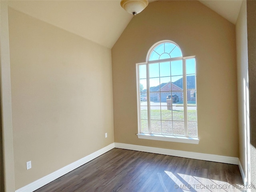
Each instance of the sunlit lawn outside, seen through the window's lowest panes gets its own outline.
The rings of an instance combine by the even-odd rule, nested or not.
[[[151,110],[151,130],[155,134],[184,136],[184,110]],[[148,132],[147,110],[141,110],[142,132]],[[161,122],[162,120],[162,122]],[[197,136],[196,110],[188,110],[188,136]]]

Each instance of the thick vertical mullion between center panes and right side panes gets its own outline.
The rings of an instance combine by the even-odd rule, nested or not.
[[[184,104],[184,126],[185,126],[185,137],[188,137],[188,108],[187,108],[187,75],[186,75],[186,59],[182,59],[183,67],[183,104]]]

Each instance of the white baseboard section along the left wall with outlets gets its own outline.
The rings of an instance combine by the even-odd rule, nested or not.
[[[87,162],[97,158],[98,156],[101,156],[102,154],[108,152],[109,150],[113,149],[114,148],[114,143],[88,155],[88,156],[85,156],[84,158],[80,159],[80,160],[77,160],[49,175],[46,175],[44,176],[43,178],[40,178],[18,190],[16,190],[15,192],[33,192],[34,190],[37,190],[39,189],[40,187],[52,182],[53,180],[67,174],[68,172],[82,166],[83,164],[86,164]]]

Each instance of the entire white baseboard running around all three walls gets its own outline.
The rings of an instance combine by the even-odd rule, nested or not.
[[[135,150],[135,151],[150,152],[150,153],[156,153],[156,154],[178,156],[178,157],[214,161],[214,162],[221,162],[221,163],[229,163],[229,164],[236,164],[236,165],[238,164],[243,180],[245,178],[241,163],[239,159],[236,157],[228,157],[228,156],[220,156],[220,155],[212,155],[212,154],[204,154],[204,153],[196,153],[196,152],[186,152],[186,151],[163,149],[163,148],[156,148],[156,147],[124,144],[124,143],[112,143],[80,160],[77,160],[76,162],[73,162],[49,175],[44,176],[43,178],[40,178],[16,190],[15,192],[33,192],[34,190],[39,189],[40,187],[82,166],[83,164],[86,164],[87,162],[97,158],[98,156],[108,152],[113,148],[129,149],[129,150]]]

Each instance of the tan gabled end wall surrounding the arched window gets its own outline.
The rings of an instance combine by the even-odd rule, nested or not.
[[[138,139],[136,63],[160,40],[196,56],[196,144]],[[115,142],[238,157],[235,26],[197,1],[152,2],[112,48]]]

